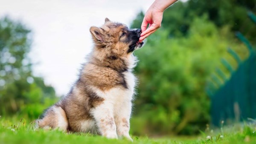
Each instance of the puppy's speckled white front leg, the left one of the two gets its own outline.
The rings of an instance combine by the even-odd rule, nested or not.
[[[96,120],[99,132],[107,138],[117,138],[116,124],[113,116],[113,104],[111,101],[103,101],[91,111]]]

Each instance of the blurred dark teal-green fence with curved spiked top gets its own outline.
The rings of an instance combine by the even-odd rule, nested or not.
[[[248,16],[256,23],[253,13],[249,12]],[[221,69],[216,69],[218,77],[213,75],[212,81],[206,86],[207,94],[211,98],[212,124],[215,126],[219,126],[221,121],[231,124],[234,121],[256,118],[256,52],[240,32],[237,32],[236,36],[247,46],[249,57],[242,61],[236,52],[229,48],[228,52],[238,63],[238,68],[234,70],[227,60],[222,59],[221,62],[230,72],[230,79],[226,78]],[[221,81],[224,81],[224,84],[221,84]]]

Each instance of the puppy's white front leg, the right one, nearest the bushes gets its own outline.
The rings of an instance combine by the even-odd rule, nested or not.
[[[124,101],[119,109],[116,109],[116,129],[119,137],[125,137],[130,141],[133,141],[129,135],[130,130],[130,116],[131,116],[131,101]]]

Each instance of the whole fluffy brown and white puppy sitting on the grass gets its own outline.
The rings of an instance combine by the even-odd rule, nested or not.
[[[140,29],[128,29],[108,18],[91,27],[95,44],[76,83],[58,103],[37,120],[41,128],[93,132],[130,140],[130,117],[136,77],[133,51],[140,48]]]

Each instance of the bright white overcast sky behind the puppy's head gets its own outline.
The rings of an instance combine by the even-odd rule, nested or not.
[[[8,15],[32,30],[34,75],[44,77],[57,95],[65,95],[92,50],[90,26],[101,26],[105,17],[129,26],[153,1],[0,0],[0,17]]]

